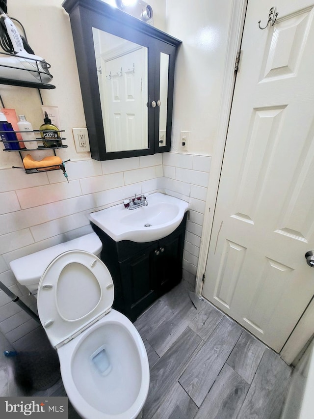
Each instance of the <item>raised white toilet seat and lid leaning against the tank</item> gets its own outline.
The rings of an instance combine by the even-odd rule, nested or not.
[[[39,281],[37,307],[52,346],[78,336],[111,310],[113,281],[105,264],[93,253],[61,253]]]

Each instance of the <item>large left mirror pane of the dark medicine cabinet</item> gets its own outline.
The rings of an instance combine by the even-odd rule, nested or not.
[[[93,28],[106,151],[148,148],[147,48]]]

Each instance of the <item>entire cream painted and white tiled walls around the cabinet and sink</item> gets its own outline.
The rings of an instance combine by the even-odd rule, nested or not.
[[[154,25],[167,27],[170,34],[183,40],[176,70],[173,152],[106,162],[91,160],[89,153],[77,154],[75,150],[72,127],[86,125],[70,22],[62,0],[8,3],[8,13],[24,24],[35,53],[52,65],[56,89],[41,93],[45,105],[59,108],[69,148],[58,155],[71,162],[66,165],[68,184],[59,170],[26,175],[13,169],[13,165],[21,165],[19,155],[0,151],[0,281],[27,304],[34,304],[26,289],[16,283],[9,269],[11,260],[91,231],[86,213],[92,210],[119,203],[133,193],[156,190],[190,202],[183,263],[185,278],[193,281],[217,130],[228,1],[223,1],[224,13],[218,13],[214,0],[150,1]],[[213,30],[210,42],[200,37],[207,29]],[[41,125],[36,89],[0,85],[0,95],[7,108],[25,113],[34,128]],[[178,147],[181,130],[191,132],[187,154]],[[0,330],[11,343],[36,326],[0,291]]]

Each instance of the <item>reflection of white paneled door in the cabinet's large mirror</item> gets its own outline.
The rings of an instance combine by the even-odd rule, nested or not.
[[[147,58],[144,49],[107,59],[103,67],[106,151],[147,148]]]

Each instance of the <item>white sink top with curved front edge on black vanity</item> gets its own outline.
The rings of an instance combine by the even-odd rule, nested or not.
[[[89,214],[89,219],[116,242],[151,242],[172,233],[182,222],[188,203],[174,196],[155,193],[148,205],[129,210],[123,204]]]

